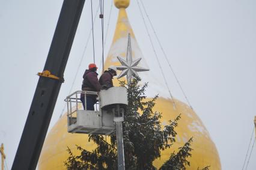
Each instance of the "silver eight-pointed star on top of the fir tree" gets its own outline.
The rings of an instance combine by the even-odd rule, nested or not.
[[[117,59],[120,61],[121,65],[117,66],[117,70],[121,70],[121,73],[117,77],[118,79],[126,76],[128,85],[130,85],[130,81],[132,79],[132,76],[135,78],[138,78],[139,75],[137,71],[149,71],[147,68],[138,67],[139,61],[141,61],[141,58],[136,59],[135,61],[132,61],[132,46],[130,41],[130,34],[128,35],[128,46],[127,46],[127,54],[126,54],[126,61],[121,58],[120,56],[117,56]]]

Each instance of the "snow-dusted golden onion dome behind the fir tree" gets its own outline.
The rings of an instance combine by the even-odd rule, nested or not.
[[[121,2],[124,4],[126,3],[126,5],[122,6]],[[116,0],[115,5],[120,8],[120,11],[111,49],[109,50],[108,57],[105,61],[105,68],[108,68],[110,65],[120,65],[116,56],[126,56],[127,36],[129,33],[131,34],[132,39],[133,58],[136,59],[142,57],[141,50],[136,42],[135,35],[133,34],[125,10],[125,7],[129,5],[129,1]],[[145,64],[141,66],[147,67],[143,57],[141,64]],[[151,72],[149,71],[149,73]],[[153,86],[154,90],[163,89],[160,84],[154,82],[154,78],[151,77],[151,74],[140,73],[139,75],[142,80],[149,82],[149,86]],[[116,79],[114,80],[114,83],[115,85],[118,85]],[[151,91],[150,93],[157,94],[156,91]],[[208,165],[214,170],[221,169],[221,162],[215,144],[197,114],[183,102],[178,100],[172,101],[166,96],[161,96],[161,94],[159,94],[159,96],[154,110],[162,112],[162,125],[165,126],[169,120],[174,120],[180,113],[181,120],[178,121],[178,127],[175,129],[178,134],[176,142],[171,148],[162,151],[161,157],[154,160],[153,165],[159,168],[169,159],[169,156],[174,150],[177,151],[189,138],[193,137],[194,142],[192,142],[191,146],[193,148],[192,157],[189,158],[190,166],[187,167],[187,169],[197,169],[198,167],[204,168]],[[173,102],[175,103],[175,108],[173,107]],[[88,142],[88,135],[67,133],[67,115],[63,115],[50,130],[44,141],[43,150],[41,151],[38,162],[38,169],[65,169],[64,161],[69,157],[67,147],[69,147],[74,154],[79,154],[78,150],[76,150],[76,145],[86,148],[89,151],[96,148],[96,144]]]

